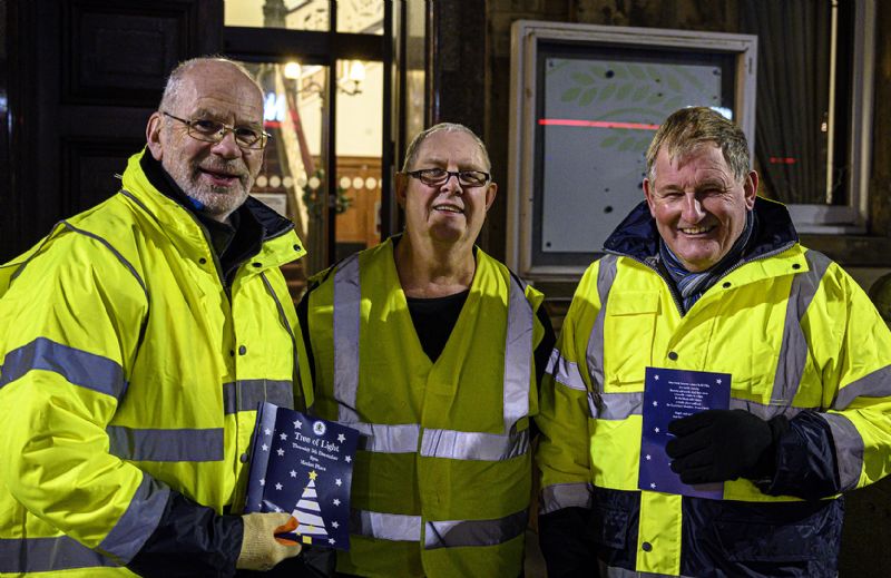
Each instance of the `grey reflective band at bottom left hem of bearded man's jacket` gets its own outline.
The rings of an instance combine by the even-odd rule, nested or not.
[[[80,568],[118,567],[68,536],[0,539],[0,574],[52,572]]]

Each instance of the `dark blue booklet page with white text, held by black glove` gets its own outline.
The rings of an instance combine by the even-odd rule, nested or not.
[[[723,483],[688,486],[672,471],[665,445],[673,438],[668,423],[704,410],[726,410],[731,401],[730,373],[647,368],[644,381],[643,434],[637,487],[719,500]]]

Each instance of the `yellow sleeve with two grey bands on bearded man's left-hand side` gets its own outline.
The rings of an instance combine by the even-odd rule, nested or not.
[[[0,511],[23,507],[124,562],[169,496],[110,454],[106,434],[139,344],[145,292],[106,246],[71,233],[28,262],[0,300]]]

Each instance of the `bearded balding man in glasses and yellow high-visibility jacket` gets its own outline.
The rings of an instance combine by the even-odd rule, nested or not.
[[[312,403],[278,268],[304,249],[247,196],[262,91],[186,61],[146,137],[117,195],[0,267],[0,575],[233,576],[301,551],[275,537],[288,515],[234,515],[257,403]]]

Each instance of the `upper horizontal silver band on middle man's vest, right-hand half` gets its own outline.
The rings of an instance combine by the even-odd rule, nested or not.
[[[452,460],[502,461],[529,450],[529,430],[507,435],[453,430],[424,430],[421,455]]]

